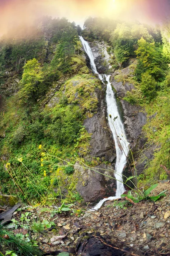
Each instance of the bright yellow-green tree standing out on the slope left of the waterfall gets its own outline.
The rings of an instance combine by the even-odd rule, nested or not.
[[[18,93],[20,104],[29,103],[36,98],[40,84],[44,80],[44,74],[38,61],[33,58],[24,65],[24,72],[20,81],[21,89]]]

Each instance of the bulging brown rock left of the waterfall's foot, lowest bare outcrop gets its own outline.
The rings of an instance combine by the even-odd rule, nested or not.
[[[115,195],[116,180],[114,179],[113,172],[108,167],[105,164],[101,164],[95,166],[94,170],[91,170],[83,168],[83,166],[79,165],[79,162],[75,163],[74,169],[79,175],[77,191],[85,202],[94,202],[104,197]]]

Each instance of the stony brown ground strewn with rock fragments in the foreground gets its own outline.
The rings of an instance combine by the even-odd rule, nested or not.
[[[23,207],[14,212],[14,218],[21,222],[21,214],[29,212],[28,219],[42,222],[54,221],[53,227],[42,233],[25,230],[37,239],[44,255],[83,256],[156,256],[169,255],[170,252],[170,183],[159,183],[153,190],[158,195],[166,190],[166,197],[153,203],[141,201],[138,204],[121,201],[107,202],[98,212],[87,211],[84,215],[78,207],[70,213],[51,214],[53,207]],[[123,201],[122,201],[123,202]],[[71,207],[72,208],[72,207]],[[45,209],[45,210],[43,210]],[[77,211],[78,209],[78,211]],[[14,233],[23,233],[18,225]]]

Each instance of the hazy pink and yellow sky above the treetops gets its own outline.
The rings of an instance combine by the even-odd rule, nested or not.
[[[170,16],[170,0],[0,0],[0,34],[42,15],[67,17],[81,25],[89,16],[161,23]]]

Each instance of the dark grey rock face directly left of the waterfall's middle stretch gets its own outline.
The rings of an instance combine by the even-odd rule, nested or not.
[[[91,156],[100,157],[105,161],[113,162],[116,158],[116,149],[112,133],[106,120],[107,109],[105,102],[105,88],[96,90],[98,97],[98,111],[93,117],[85,119],[84,125],[88,133],[91,133]]]

